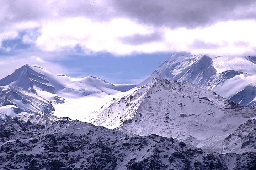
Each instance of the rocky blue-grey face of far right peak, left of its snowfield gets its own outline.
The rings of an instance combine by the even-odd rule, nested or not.
[[[175,81],[190,81],[201,86],[216,73],[212,66],[212,58],[209,56],[192,55],[187,52],[179,52],[168,58],[147,79],[139,85],[145,85],[153,78],[161,78]]]

